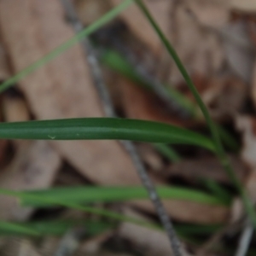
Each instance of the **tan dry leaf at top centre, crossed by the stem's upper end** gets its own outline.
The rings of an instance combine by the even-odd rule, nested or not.
[[[122,0],[110,0],[113,6],[121,3]],[[169,0],[152,1],[146,0],[149,11],[157,20],[162,31],[168,36],[170,29],[170,16],[172,13],[173,2]],[[136,4],[132,4],[125,12],[121,14],[121,17],[130,26],[131,31],[134,32],[138,38],[140,38],[144,44],[154,52],[154,54],[159,55],[162,49],[162,44],[160,39],[154,32],[154,29],[148,23],[148,20],[144,17],[141,10],[137,8]]]

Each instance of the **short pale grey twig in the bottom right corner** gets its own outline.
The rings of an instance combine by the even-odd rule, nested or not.
[[[248,220],[241,233],[241,238],[236,251],[236,256],[245,256],[253,237],[253,224]]]

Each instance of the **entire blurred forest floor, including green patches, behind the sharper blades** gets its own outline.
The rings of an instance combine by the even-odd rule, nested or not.
[[[78,19],[73,19],[61,0],[0,1],[1,82],[43,58],[122,1],[71,3]],[[256,1],[144,3],[177,50],[218,125],[237,177],[254,202]],[[91,64],[95,62],[96,66]],[[101,87],[102,82],[106,87]],[[135,3],[85,41],[13,85],[0,96],[2,122],[114,113],[211,136],[182,75]],[[184,255],[256,254],[253,227],[215,155],[187,145],[135,146],[154,183],[177,189],[164,202],[183,242]],[[141,184],[131,155],[114,141],[1,140],[0,166],[1,189]],[[215,201],[212,197],[207,201],[207,196]],[[158,223],[149,200],[131,199],[94,201],[90,206]],[[21,207],[14,197],[1,195],[0,218],[1,223],[34,224],[46,230],[33,237],[25,230],[7,234],[0,227],[0,255],[172,255],[167,236],[160,230],[67,207]],[[245,235],[247,231],[250,236]],[[245,252],[241,253],[244,237]]]

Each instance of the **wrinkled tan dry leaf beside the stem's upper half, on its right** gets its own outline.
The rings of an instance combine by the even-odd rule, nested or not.
[[[203,29],[188,12],[187,4],[177,2],[172,15],[170,38],[181,61],[190,74],[198,73],[208,77],[222,66],[223,49],[218,36],[212,30]],[[170,80],[172,84],[183,81],[176,65],[172,64]]]

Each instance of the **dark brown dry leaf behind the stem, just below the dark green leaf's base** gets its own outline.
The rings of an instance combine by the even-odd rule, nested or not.
[[[231,165],[236,175],[245,180],[248,174],[247,167],[237,157],[230,157]],[[188,182],[197,182],[200,178],[213,179],[220,183],[230,183],[229,177],[225,174],[223,167],[216,158],[205,158],[201,160],[183,160],[163,170],[167,177],[182,177]]]

